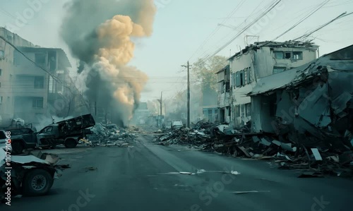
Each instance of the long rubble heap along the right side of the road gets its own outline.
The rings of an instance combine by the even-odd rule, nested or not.
[[[246,131],[246,128],[239,131]],[[155,142],[159,145],[188,145],[197,150],[220,152],[232,157],[270,159],[280,169],[300,169],[302,173],[299,177],[305,177],[304,174],[311,177],[321,174],[353,175],[351,150],[342,152],[339,148],[297,145],[271,133],[239,131],[225,125],[198,123],[193,128],[180,128],[157,135]]]

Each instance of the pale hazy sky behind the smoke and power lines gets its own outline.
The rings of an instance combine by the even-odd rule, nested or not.
[[[61,47],[69,54],[68,48],[58,35],[65,11],[64,2],[68,0],[42,1],[46,3],[41,4],[35,16],[28,19],[26,25],[16,28],[16,33],[42,47]],[[181,64],[186,64],[188,60],[193,63],[198,58],[213,54],[273,2],[273,0],[155,1],[159,10],[155,17],[153,35],[136,42],[135,57],[131,61],[131,65],[150,77],[142,100],[157,99],[161,91],[167,97],[173,97],[175,92],[185,89],[186,72],[181,72],[184,71]],[[258,35],[259,40],[273,40],[325,1],[327,0],[282,0],[282,4],[258,22],[256,27],[247,30],[219,54],[229,56],[238,52],[239,48],[244,48],[245,35]],[[0,26],[7,27],[17,26],[18,14],[23,14],[30,8],[28,1],[20,0],[0,0],[0,5]],[[347,13],[353,11],[353,0],[331,0],[277,41],[299,37],[345,11]],[[229,16],[231,13],[232,16]],[[312,35],[311,38],[316,38],[314,42],[320,46],[321,55],[353,44],[352,22],[353,15],[347,16]],[[219,23],[229,27],[217,26]],[[232,26],[237,29],[232,29]],[[248,41],[251,43],[256,39],[249,38]],[[71,58],[71,62],[76,66],[75,59]]]

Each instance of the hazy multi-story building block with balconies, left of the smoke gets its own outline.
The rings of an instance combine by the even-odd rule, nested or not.
[[[14,116],[40,123],[38,116],[65,116],[70,62],[62,49],[18,47],[13,54]],[[48,112],[49,111],[49,112]]]

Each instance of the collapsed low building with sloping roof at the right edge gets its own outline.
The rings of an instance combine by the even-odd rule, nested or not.
[[[352,147],[353,45],[261,78],[249,93],[251,130],[309,147]],[[348,149],[349,149],[348,147]]]

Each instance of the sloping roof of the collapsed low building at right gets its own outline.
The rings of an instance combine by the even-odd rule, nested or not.
[[[346,52],[349,52],[350,58],[346,56]],[[260,95],[277,89],[294,87],[306,79],[318,76],[325,71],[325,67],[353,73],[353,45],[325,54],[303,66],[261,78],[248,95]]]

